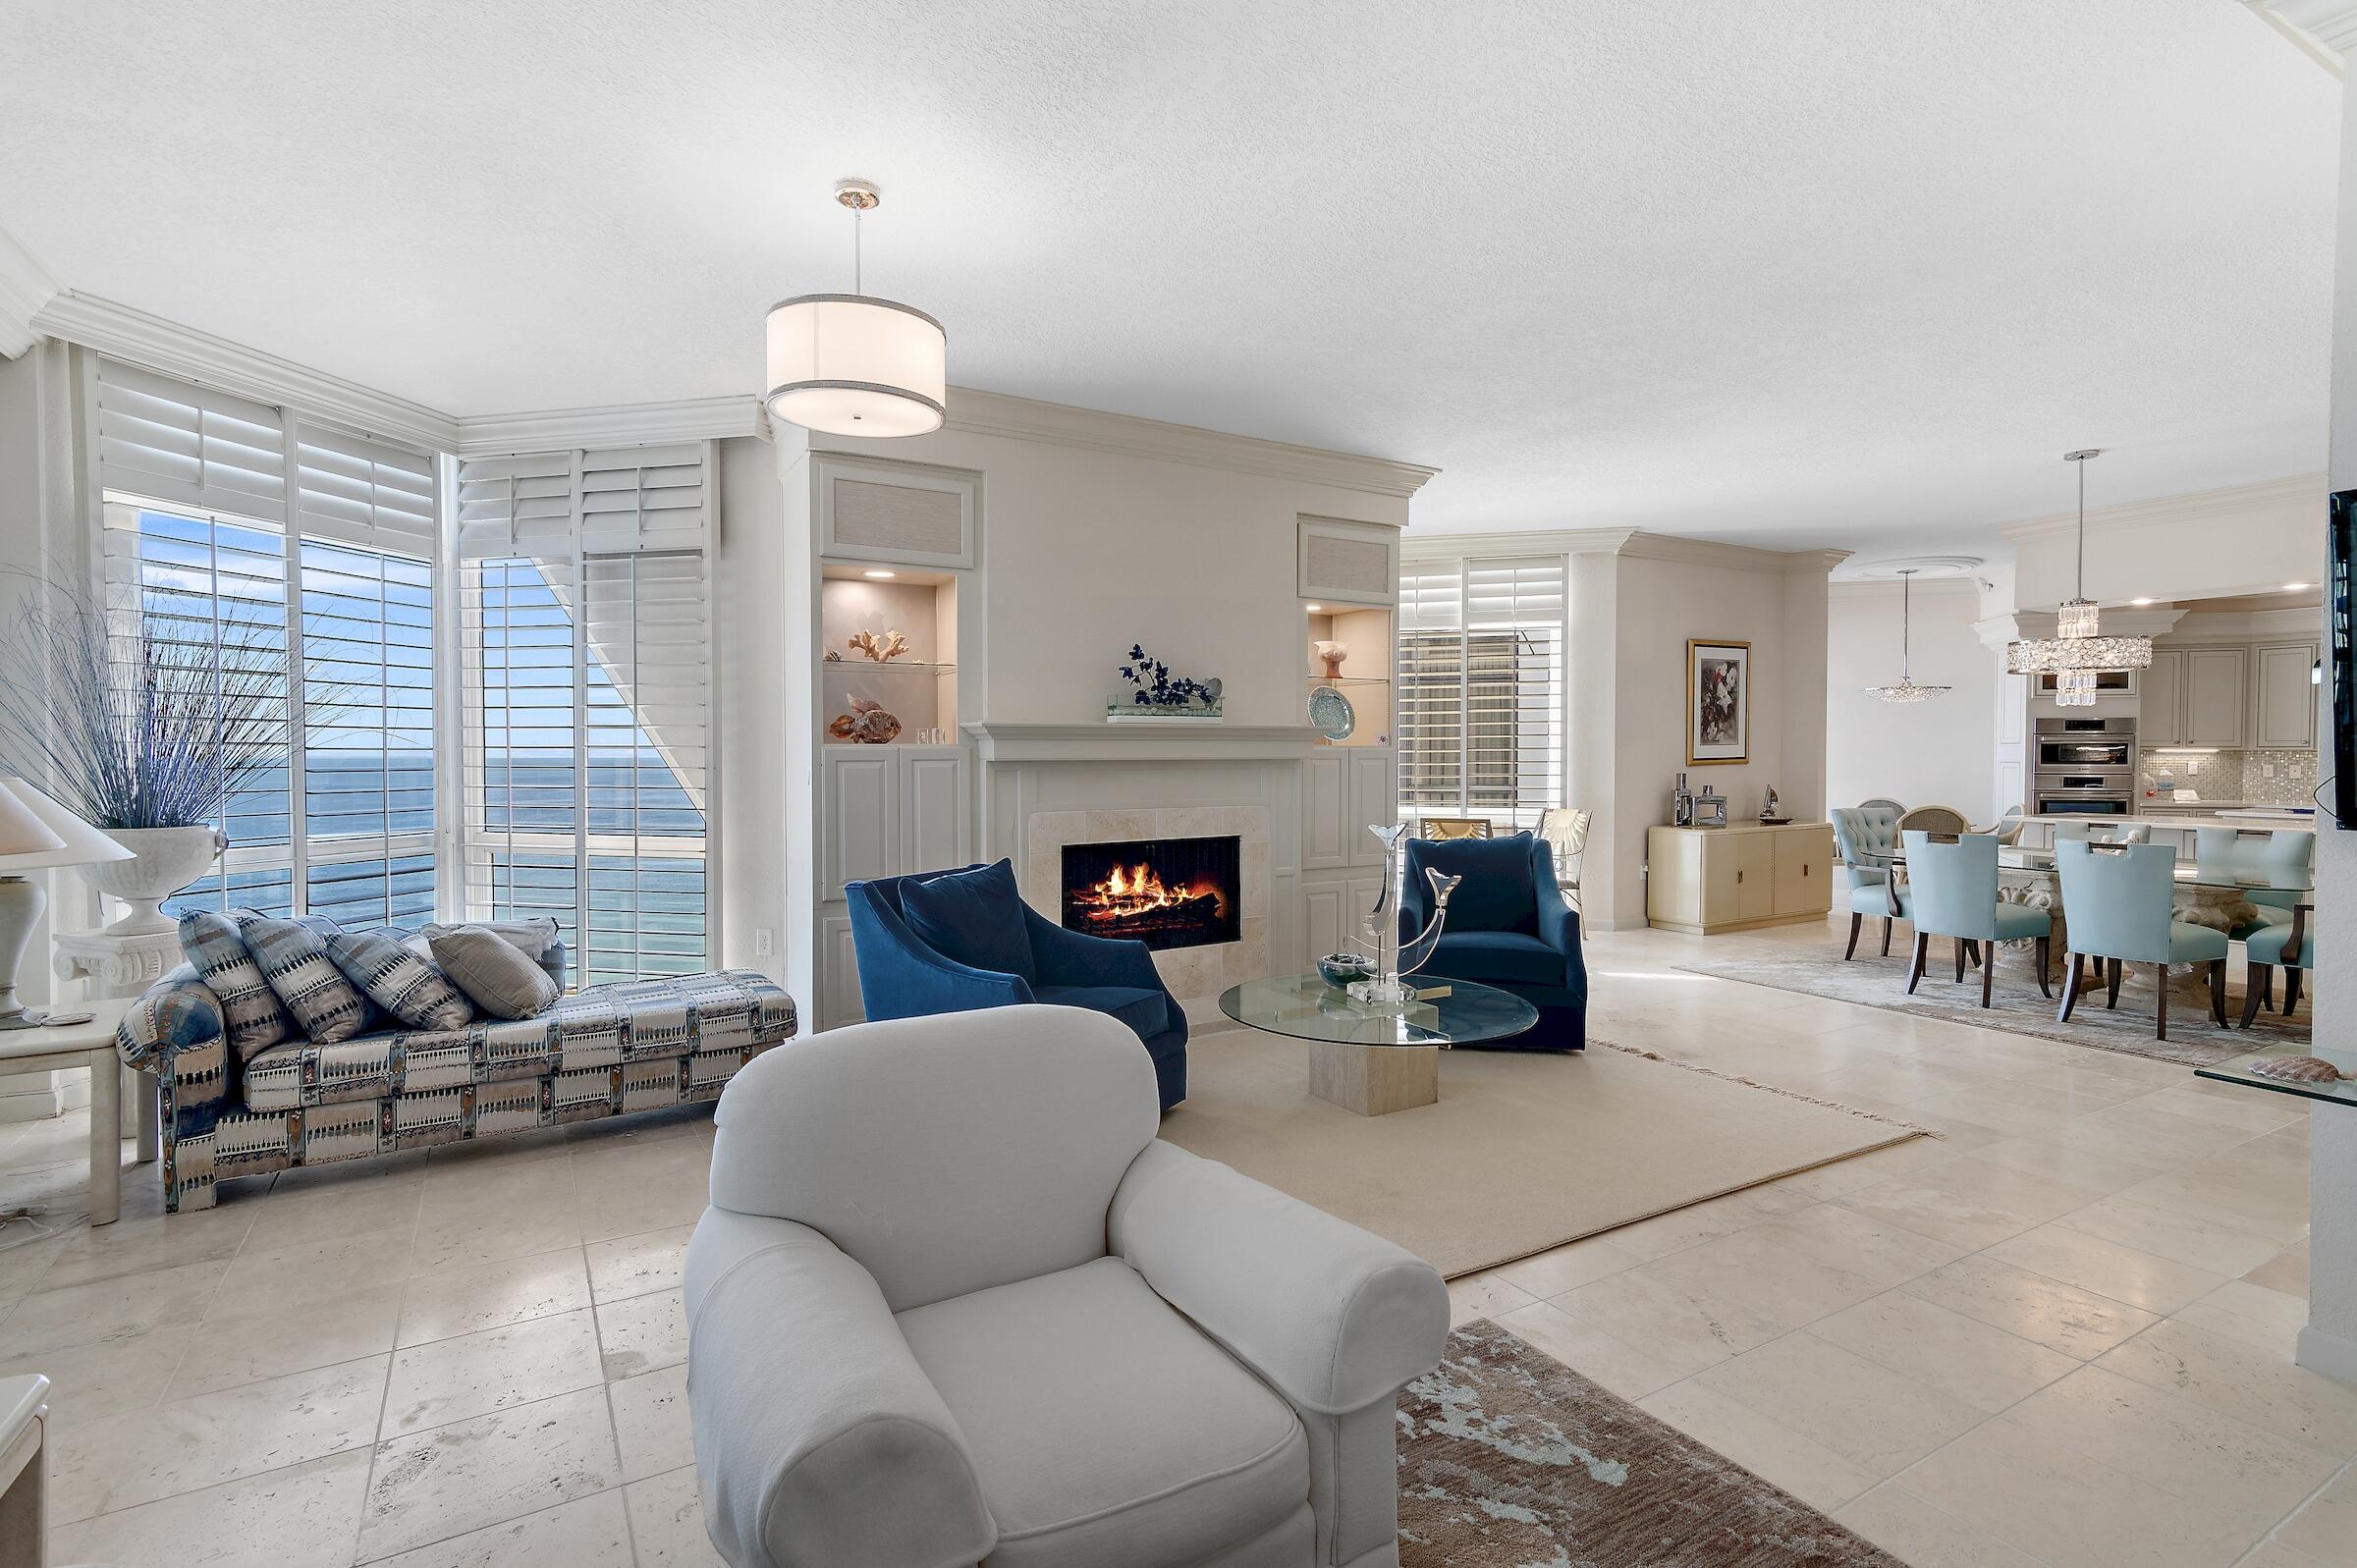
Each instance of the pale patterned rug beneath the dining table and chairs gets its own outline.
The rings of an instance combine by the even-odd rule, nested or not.
[[[1893,946],[1890,957],[1874,955],[1871,941],[1860,941],[1857,957],[1848,962],[1843,962],[1841,948],[1829,943],[1824,948],[1789,948],[1761,957],[1714,957],[1681,967],[1723,981],[1744,981],[1747,986],[1798,990],[1801,995],[1829,997],[1834,1002],[1862,1002],[1864,1007],[1904,1012],[1919,1019],[2003,1028],[2015,1035],[2036,1035],[2039,1040],[2060,1040],[2062,1045],[2084,1045],[2098,1052],[2152,1056],[2154,1061],[2178,1061],[2194,1068],[2206,1068],[2270,1045],[2308,1045],[2310,993],[2305,988],[2300,993],[2300,1012],[2291,1019],[2263,1009],[2251,1033],[2239,1028],[2244,1002],[2239,957],[2227,967],[2225,981],[2225,1016],[2237,1028],[2218,1028],[2211,1021],[2206,981],[2192,969],[2180,969],[2168,986],[2168,1040],[2154,1040],[2152,969],[2124,976],[2117,1012],[2102,1004],[2102,988],[2088,983],[2079,995],[2079,1007],[2072,1009],[2069,1023],[2055,1023],[2055,1009],[2062,1004],[2060,957],[2055,960],[2053,976],[2055,1000],[2048,1002],[2039,995],[2029,950],[2025,946],[2001,948],[1996,955],[1996,995],[1989,997],[1989,1009],[1982,1012],[1980,969],[1966,969],[1959,986],[1945,938],[1933,938],[1923,983],[1916,986],[1914,995],[1907,995],[1904,941],[1907,927],[1900,927],[1900,941]],[[2282,1004],[2282,974],[2277,974],[2275,986],[2277,1004]]]

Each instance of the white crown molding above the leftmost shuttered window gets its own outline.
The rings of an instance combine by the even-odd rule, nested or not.
[[[424,403],[410,403],[97,295],[61,292],[33,316],[33,325],[49,337],[64,337],[148,370],[349,424],[363,436],[394,446],[427,453],[448,453],[457,446],[457,420]]]

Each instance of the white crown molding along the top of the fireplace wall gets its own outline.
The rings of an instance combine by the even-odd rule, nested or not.
[[[1047,441],[1051,446],[1080,446],[1124,457],[1157,457],[1162,462],[1263,474],[1268,479],[1301,479],[1306,483],[1395,495],[1400,500],[1421,490],[1424,481],[1440,472],[1388,457],[1360,457],[1358,453],[1329,453],[1315,446],[1230,436],[1193,424],[1167,424],[1162,420],[1138,420],[1094,408],[1039,403],[1035,398],[976,391],[971,387],[950,387],[948,403],[950,413],[943,429],[973,436]]]

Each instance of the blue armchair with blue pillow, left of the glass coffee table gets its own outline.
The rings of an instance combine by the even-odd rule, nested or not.
[[[990,955],[988,967],[966,962],[978,955],[976,948],[952,957],[917,934],[924,917],[912,920],[907,891],[940,877],[978,882],[988,898],[997,898],[997,910],[981,905],[992,929],[976,934]],[[1155,971],[1155,955],[1141,941],[1108,941],[1049,924],[1016,896],[1006,861],[849,882],[844,898],[851,903],[851,948],[870,1021],[1021,1002],[1084,1007],[1120,1019],[1146,1045],[1164,1111],[1186,1099],[1186,1009]]]

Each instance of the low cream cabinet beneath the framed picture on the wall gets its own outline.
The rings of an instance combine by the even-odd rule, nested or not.
[[[1645,920],[1669,931],[1747,931],[1834,908],[1831,823],[1650,828]]]

